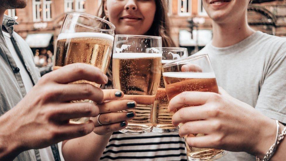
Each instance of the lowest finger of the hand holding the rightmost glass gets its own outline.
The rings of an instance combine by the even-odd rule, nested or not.
[[[212,144],[212,140],[214,140],[214,136],[205,135],[205,136],[188,136],[186,138],[186,142],[190,147],[196,148],[217,148]]]

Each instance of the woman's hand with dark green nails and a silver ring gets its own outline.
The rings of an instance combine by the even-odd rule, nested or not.
[[[119,131],[127,126],[127,120],[135,117],[135,112],[119,112],[130,110],[136,107],[136,102],[122,99],[124,94],[118,89],[103,89],[104,102],[96,104],[99,107],[98,116],[92,118],[94,122],[93,132],[98,135],[106,135],[114,131]],[[103,124],[100,125],[98,121]]]

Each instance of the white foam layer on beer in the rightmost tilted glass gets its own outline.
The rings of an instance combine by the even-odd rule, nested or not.
[[[197,79],[208,79],[215,78],[214,72],[210,73],[199,73],[199,72],[164,72],[164,77],[172,78],[197,78]]]

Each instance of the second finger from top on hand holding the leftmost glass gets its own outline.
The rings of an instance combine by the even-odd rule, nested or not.
[[[103,102],[103,91],[88,83],[83,84],[61,84],[56,88],[55,97],[57,101],[92,100],[96,103]]]

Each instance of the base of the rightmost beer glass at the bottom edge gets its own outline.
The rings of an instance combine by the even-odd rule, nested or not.
[[[216,155],[212,154],[212,150],[216,149],[210,149],[202,152],[193,153],[192,155],[188,154],[188,160],[189,161],[212,161],[217,160],[224,155],[227,154],[227,151],[222,150],[222,152],[217,153]]]

